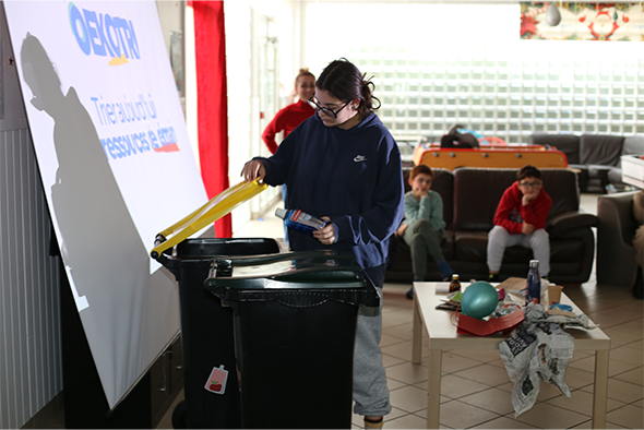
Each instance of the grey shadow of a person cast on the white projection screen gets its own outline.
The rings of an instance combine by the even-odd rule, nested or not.
[[[56,159],[38,163],[58,165],[51,186],[58,239],[70,280],[88,302],[88,309],[79,311],[97,367],[104,370],[106,394],[114,394],[105,386],[106,379],[128,385],[141,365],[136,351],[142,342],[143,297],[151,283],[150,256],[76,91],[70,87],[63,94],[55,64],[31,34],[22,44],[21,61],[32,105],[55,122]],[[34,145],[51,145],[43,140]],[[119,363],[128,363],[128,370],[118,370]]]

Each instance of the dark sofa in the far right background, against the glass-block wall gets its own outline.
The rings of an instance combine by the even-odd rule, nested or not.
[[[643,135],[535,133],[529,143],[563,152],[569,167],[579,171],[582,192],[599,194],[606,193],[609,183],[625,186],[621,180],[622,155],[644,154]]]

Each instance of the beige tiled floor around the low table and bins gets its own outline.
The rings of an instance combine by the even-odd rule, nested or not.
[[[582,207],[596,213],[596,195],[584,194]],[[269,212],[272,214],[272,212]],[[273,216],[249,223],[238,237],[281,237],[282,224]],[[389,429],[421,429],[427,418],[427,356],[412,363],[412,301],[407,284],[384,285],[381,347],[391,392]],[[644,303],[628,288],[598,285],[595,274],[565,292],[611,338],[607,427],[644,428]],[[428,338],[425,338],[427,345]],[[594,355],[575,353],[565,380],[571,397],[542,383],[535,406],[514,418],[513,383],[497,351],[445,351],[441,386],[441,428],[588,429],[592,426]],[[170,408],[170,411],[172,408]],[[158,428],[171,428],[169,415]],[[362,418],[354,416],[355,428]]]

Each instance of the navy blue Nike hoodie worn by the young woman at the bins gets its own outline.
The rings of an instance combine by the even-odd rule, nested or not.
[[[351,251],[363,267],[386,262],[389,238],[403,218],[401,153],[371,112],[349,130],[326,127],[315,114],[297,127],[264,162],[264,181],[286,183],[287,210],[329,216],[337,241],[325,246],[290,229],[294,251]]]

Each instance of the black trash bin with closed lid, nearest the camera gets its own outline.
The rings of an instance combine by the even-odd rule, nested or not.
[[[351,427],[358,307],[380,303],[353,255],[217,259],[205,286],[234,310],[243,428]]]

